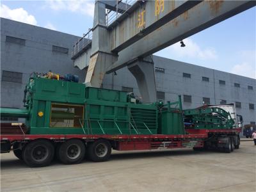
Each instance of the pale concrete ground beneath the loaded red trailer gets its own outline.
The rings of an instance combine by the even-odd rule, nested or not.
[[[1,154],[1,191],[256,191],[256,147],[231,154],[192,149],[113,152],[104,163],[28,168]]]

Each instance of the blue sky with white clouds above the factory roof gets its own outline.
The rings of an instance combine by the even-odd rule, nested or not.
[[[82,36],[93,24],[93,1],[1,1],[1,17]],[[256,79],[256,8],[250,8],[155,55]]]

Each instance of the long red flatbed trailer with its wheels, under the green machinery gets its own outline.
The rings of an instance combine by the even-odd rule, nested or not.
[[[110,135],[110,134],[1,134],[1,153],[13,150],[15,156],[23,159],[29,166],[47,166],[51,163],[56,154],[60,156],[60,145],[69,143],[70,147],[76,147],[77,141],[83,143],[83,152],[81,157],[89,157],[92,161],[108,161],[111,150],[153,150],[166,148],[193,148],[202,150],[217,148],[224,152],[232,152],[234,148],[239,148],[240,128],[237,129],[186,129],[188,134],[134,134],[134,135]],[[36,156],[36,145],[38,153],[42,153],[40,145],[44,143],[52,145],[53,150],[46,149],[52,155],[45,163],[33,163],[33,154]],[[97,144],[95,146],[94,144]],[[32,145],[32,146],[30,146]],[[26,156],[22,151],[26,148],[33,148],[35,152],[28,152]],[[47,145],[45,145],[47,146]],[[94,146],[94,147],[93,147]],[[52,148],[49,147],[49,148]],[[46,147],[47,148],[47,147]],[[68,150],[67,150],[68,151]],[[103,151],[103,152],[102,152]],[[29,157],[31,154],[31,157]],[[75,154],[77,155],[77,154]],[[67,154],[68,156],[68,154]],[[70,152],[69,156],[72,156]],[[29,159],[31,158],[31,159]],[[83,159],[81,158],[81,160]],[[65,158],[59,159],[65,164],[73,164],[72,161],[65,161]],[[66,159],[67,160],[67,159]],[[74,163],[80,163],[74,161]]]

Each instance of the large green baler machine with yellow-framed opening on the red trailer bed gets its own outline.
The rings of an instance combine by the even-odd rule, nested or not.
[[[165,105],[145,104],[133,93],[86,87],[36,73],[26,85],[24,107],[1,108],[0,113],[26,118],[28,134],[186,134],[184,117],[190,122],[202,117],[182,111],[180,97]],[[229,123],[226,128],[232,127]]]

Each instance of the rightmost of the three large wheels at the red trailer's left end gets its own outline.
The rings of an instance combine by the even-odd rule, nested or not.
[[[88,157],[95,162],[108,161],[111,145],[107,140],[97,140],[88,144]]]

